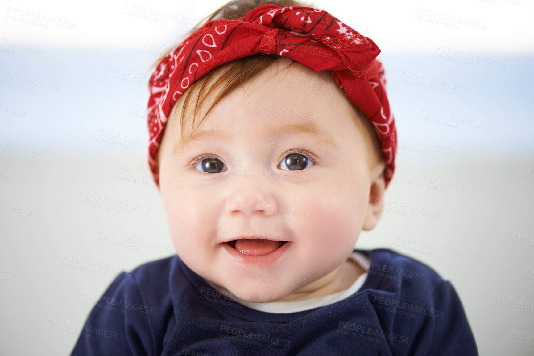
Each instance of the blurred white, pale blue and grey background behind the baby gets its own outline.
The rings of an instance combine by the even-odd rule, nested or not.
[[[0,354],[69,354],[117,273],[174,254],[146,162],[147,80],[223,4],[0,2]],[[314,7],[379,45],[397,122],[384,212],[357,247],[450,280],[482,356],[534,354],[532,2]]]

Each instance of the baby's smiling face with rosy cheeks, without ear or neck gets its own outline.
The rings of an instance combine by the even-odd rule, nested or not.
[[[252,302],[284,298],[334,271],[369,215],[372,179],[349,99],[330,74],[298,62],[270,78],[280,64],[287,61],[221,100],[197,129],[209,134],[183,151],[173,152],[179,122],[169,122],[159,152],[177,254]],[[172,180],[183,185],[165,184]]]

